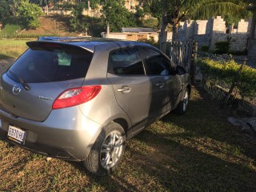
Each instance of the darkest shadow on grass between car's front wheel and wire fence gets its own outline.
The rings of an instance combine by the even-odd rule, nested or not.
[[[195,87],[188,111],[184,116],[169,114],[162,118],[163,124],[171,123],[185,130],[184,137],[201,137],[225,142],[237,146],[250,158],[256,157],[256,140],[252,135],[243,133],[241,128],[227,121],[234,114],[232,109],[221,108],[220,102],[214,100],[202,90]]]

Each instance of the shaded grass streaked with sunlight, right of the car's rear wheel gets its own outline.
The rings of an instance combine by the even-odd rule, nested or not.
[[[184,116],[168,114],[127,142],[114,174],[97,177],[70,163],[108,191],[256,191],[255,142],[227,115],[194,89]]]

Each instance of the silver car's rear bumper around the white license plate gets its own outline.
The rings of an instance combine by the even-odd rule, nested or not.
[[[73,108],[73,109],[72,109]],[[82,161],[90,153],[102,126],[86,118],[77,106],[52,110],[44,122],[15,117],[0,110],[0,137],[27,150],[53,158]],[[10,140],[9,126],[26,131],[24,144]]]

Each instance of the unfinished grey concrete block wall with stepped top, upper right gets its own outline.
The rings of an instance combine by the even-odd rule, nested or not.
[[[181,22],[178,28],[178,41],[194,39],[198,42],[199,48],[210,46],[210,50],[214,50],[215,42],[231,38],[230,50],[242,51],[247,48],[250,26],[251,21],[241,19],[238,22],[238,29],[230,30],[230,33],[226,34],[228,28],[220,16],[209,20]]]

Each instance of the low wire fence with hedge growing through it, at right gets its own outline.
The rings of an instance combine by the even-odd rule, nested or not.
[[[236,57],[231,54],[219,55],[201,51],[194,52],[194,54],[197,58],[196,80],[202,82],[205,89],[214,98],[229,100],[229,104],[235,107],[238,106],[239,102],[249,102],[256,106],[254,62],[248,61],[245,56]],[[213,66],[215,65],[213,70],[209,70],[210,74],[206,74],[202,65],[199,65],[200,61],[204,59],[213,61]]]

